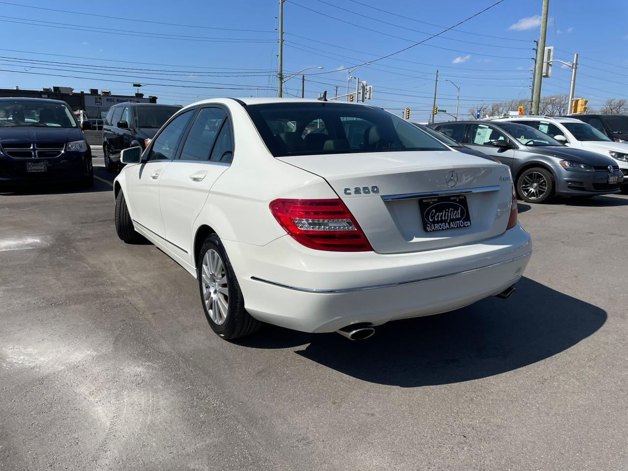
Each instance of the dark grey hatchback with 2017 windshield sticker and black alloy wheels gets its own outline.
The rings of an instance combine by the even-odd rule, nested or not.
[[[452,121],[430,127],[511,168],[519,197],[545,203],[555,195],[619,193],[624,175],[609,157],[568,148],[537,129],[512,122]]]

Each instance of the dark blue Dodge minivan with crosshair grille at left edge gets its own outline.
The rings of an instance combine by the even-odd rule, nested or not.
[[[52,181],[94,184],[92,151],[72,110],[61,100],[0,98],[0,187]]]

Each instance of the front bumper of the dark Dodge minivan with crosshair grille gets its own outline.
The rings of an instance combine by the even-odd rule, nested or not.
[[[29,164],[46,164],[45,171],[28,171]],[[92,172],[92,154],[66,152],[55,158],[23,159],[0,155],[0,184],[78,180]]]

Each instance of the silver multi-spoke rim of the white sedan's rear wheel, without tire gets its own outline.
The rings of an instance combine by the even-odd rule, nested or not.
[[[214,249],[209,249],[203,256],[201,278],[203,302],[209,317],[217,325],[222,325],[229,311],[229,285],[222,258]]]

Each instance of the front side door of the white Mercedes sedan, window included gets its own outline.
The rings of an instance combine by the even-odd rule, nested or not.
[[[184,112],[166,124],[153,139],[147,160],[141,165],[134,165],[129,169],[130,178],[127,176],[133,224],[139,224],[162,239],[164,230],[159,207],[159,183],[161,175],[175,158],[177,146],[192,114],[193,110]]]

